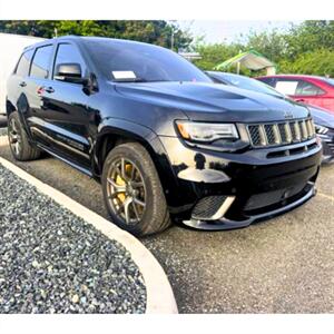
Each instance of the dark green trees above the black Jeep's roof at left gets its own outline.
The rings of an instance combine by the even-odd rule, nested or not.
[[[187,47],[193,38],[175,23],[167,21],[0,21],[0,31],[43,38],[58,36],[101,36],[132,39],[170,48],[174,35],[175,49]]]

